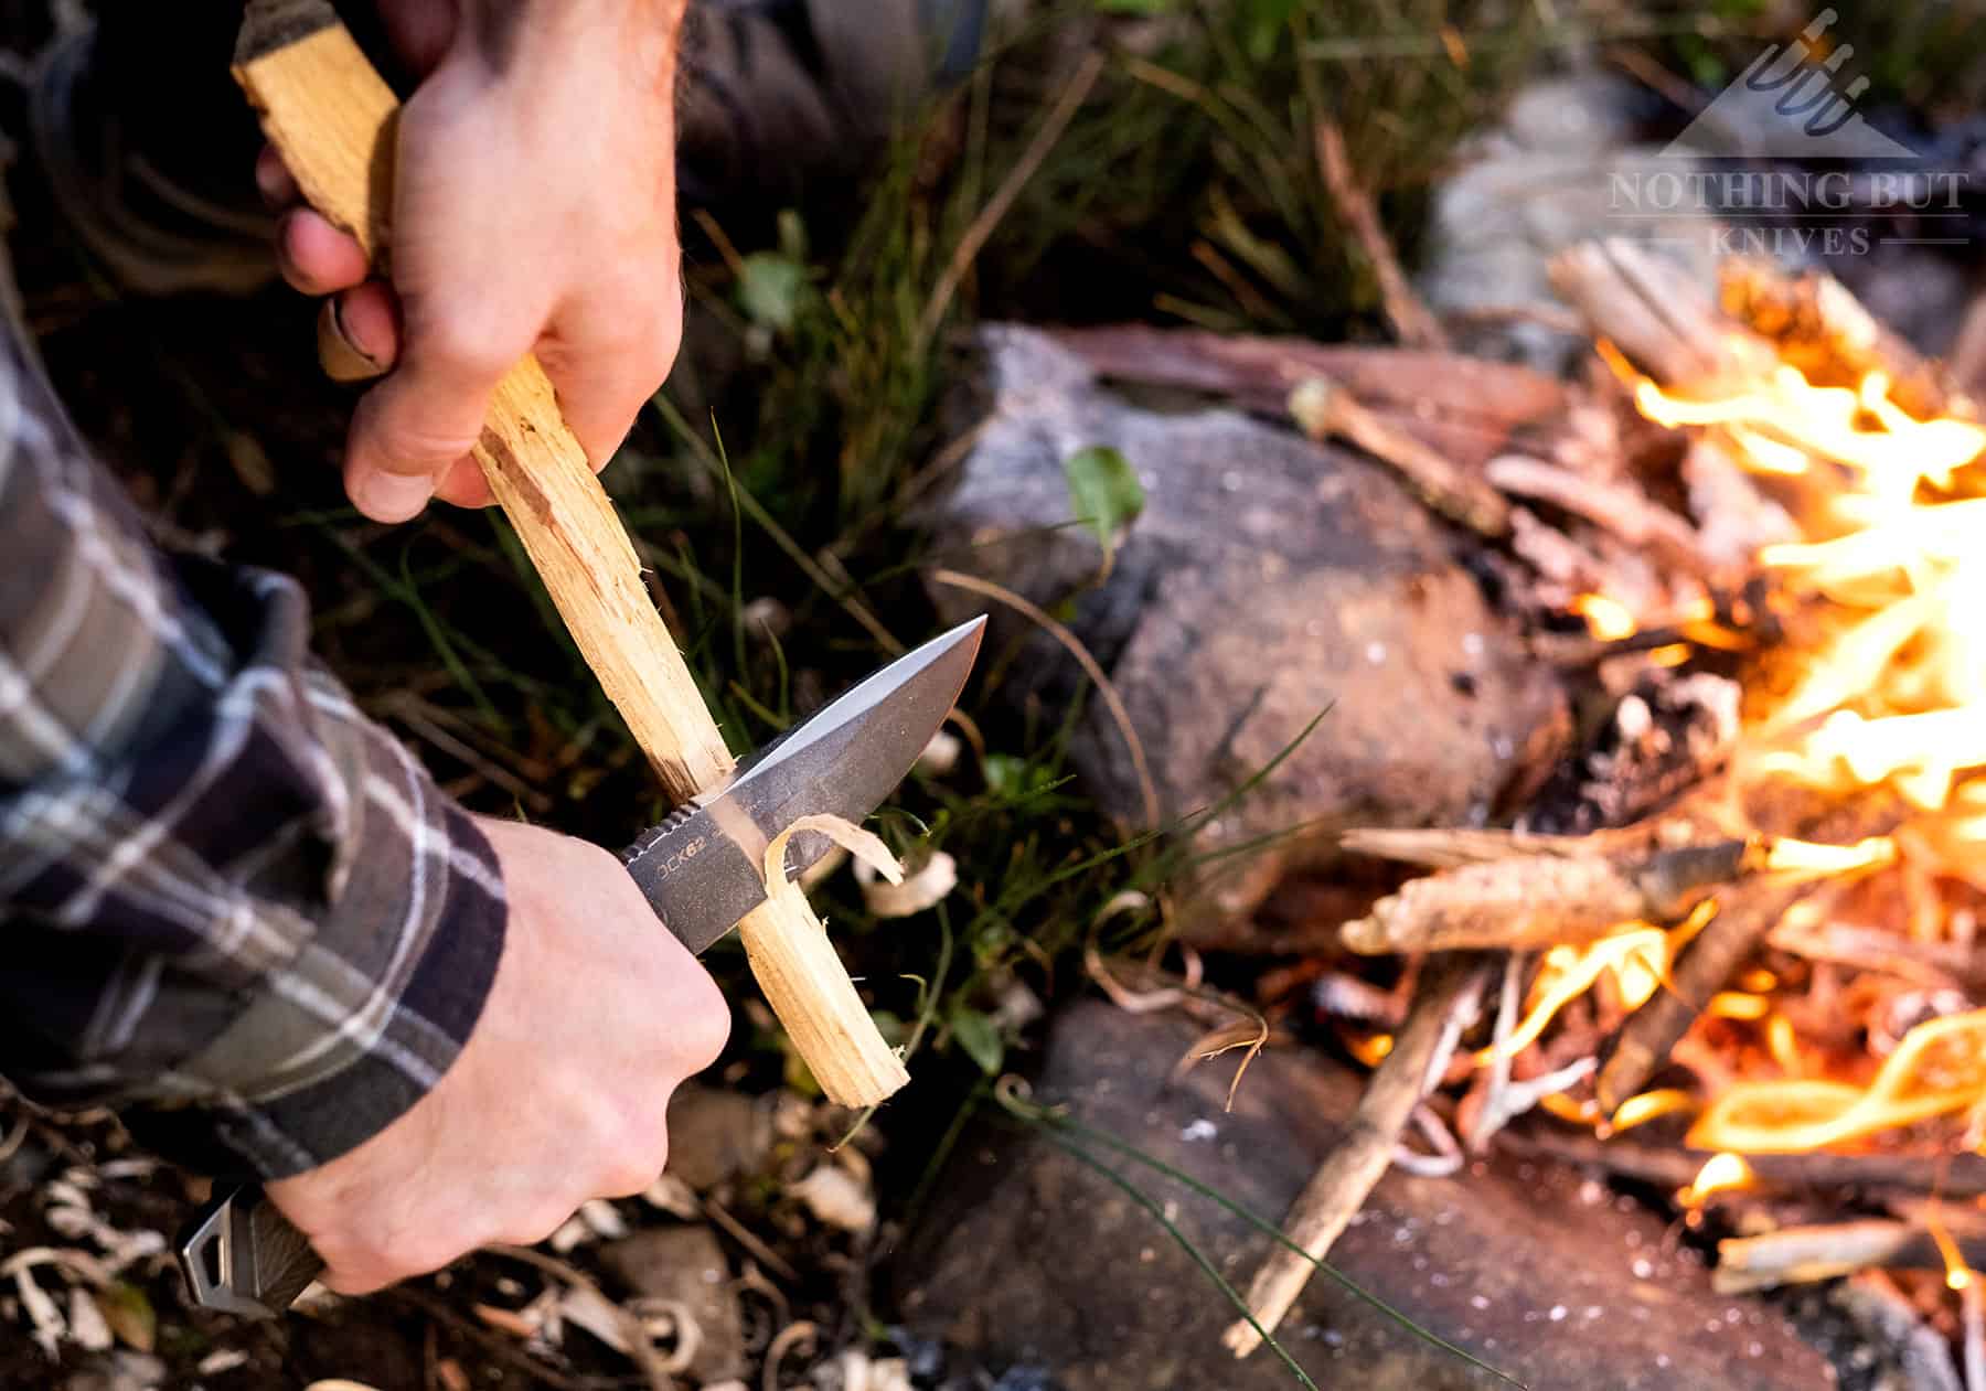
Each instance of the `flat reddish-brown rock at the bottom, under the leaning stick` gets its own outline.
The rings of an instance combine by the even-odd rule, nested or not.
[[[1277,1220],[1331,1149],[1360,1081],[1315,1054],[1255,1062],[1233,1113],[1227,1070],[1170,1085],[1190,1022],[1078,1004],[1055,1026],[1037,1097]],[[1247,1286],[1269,1240],[1156,1173],[1108,1159]],[[1781,1314],[1710,1290],[1652,1212],[1579,1173],[1491,1163],[1456,1179],[1388,1175],[1333,1250],[1350,1280],[1533,1391],[1815,1391],[1833,1369]],[[983,1125],[933,1185],[898,1270],[912,1329],[1053,1371],[1061,1391],[1291,1385],[1261,1351],[1221,1347],[1231,1308],[1150,1214],[1045,1139]],[[1281,1331],[1319,1385],[1497,1385],[1327,1278]]]

